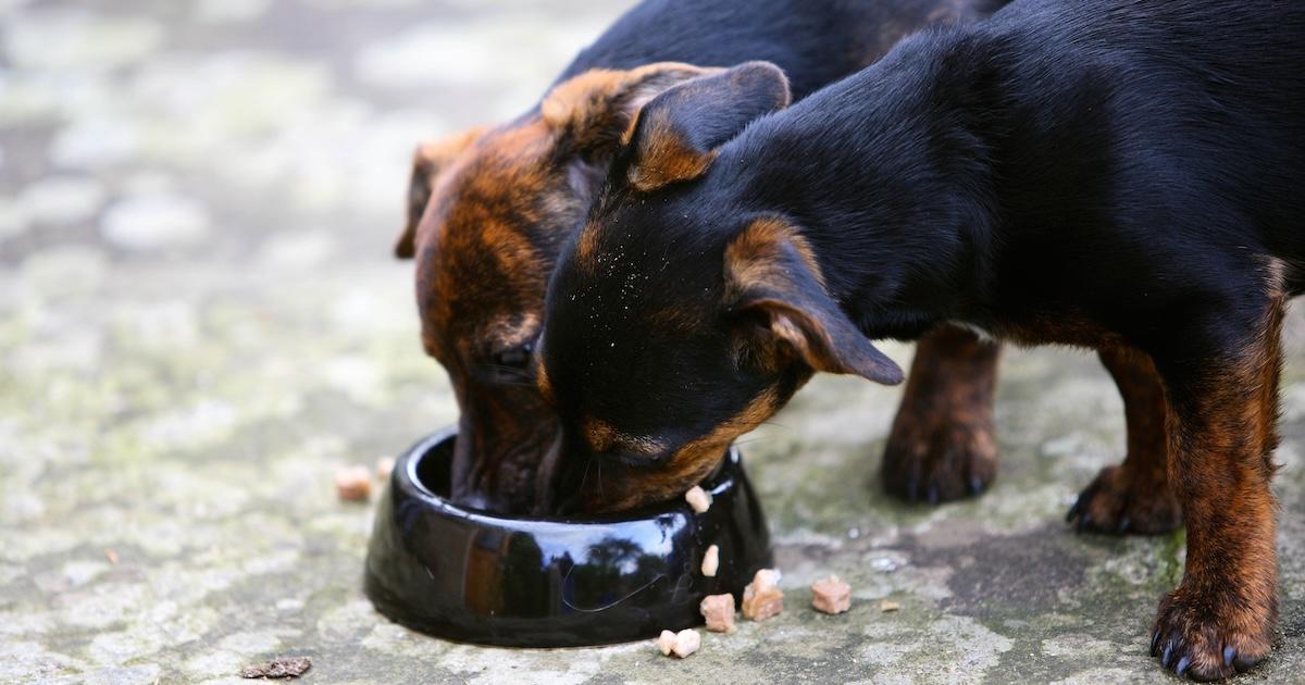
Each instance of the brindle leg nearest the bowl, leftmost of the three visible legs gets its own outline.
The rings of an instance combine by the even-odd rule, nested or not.
[[[997,475],[992,393],[1001,346],[946,326],[916,346],[883,450],[883,488],[929,504],[979,495]]]

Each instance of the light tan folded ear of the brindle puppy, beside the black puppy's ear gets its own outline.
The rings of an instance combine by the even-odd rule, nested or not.
[[[723,69],[659,61],[637,69],[590,69],[544,97],[540,114],[586,162],[611,158],[639,108],[666,89]]]

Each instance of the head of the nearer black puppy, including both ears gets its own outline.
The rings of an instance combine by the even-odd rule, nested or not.
[[[681,495],[816,371],[902,380],[827,295],[801,228],[713,174],[722,145],[787,102],[763,63],[651,100],[564,252],[539,385],[565,428],[570,509]]]

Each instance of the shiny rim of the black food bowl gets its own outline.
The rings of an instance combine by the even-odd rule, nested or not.
[[[449,440],[457,440],[458,427],[449,425],[429,436],[423,437],[403,451],[401,457],[401,463],[395,468],[395,478],[393,479],[393,487],[403,491],[408,497],[414,497],[431,506],[441,515],[448,518],[457,518],[468,521],[472,523],[483,526],[499,526],[499,527],[532,527],[532,528],[549,528],[555,526],[562,526],[568,530],[574,530],[577,526],[612,526],[620,523],[645,523],[649,521],[655,521],[658,518],[669,514],[681,514],[686,510],[692,513],[689,502],[684,497],[677,497],[673,500],[667,500],[664,502],[656,502],[629,511],[617,511],[612,514],[595,514],[586,517],[556,517],[556,515],[508,515],[497,511],[489,511],[485,509],[478,509],[472,506],[463,506],[452,502],[446,497],[442,497],[422,483],[418,476],[418,466],[422,459],[433,451],[441,444]],[[743,457],[739,449],[729,444],[726,450],[724,459],[720,464],[711,471],[702,481],[698,483],[703,491],[710,495],[719,495],[724,489],[729,489],[737,484],[737,479],[733,478],[732,471],[737,470],[743,464]],[[402,478],[398,478],[402,474]]]

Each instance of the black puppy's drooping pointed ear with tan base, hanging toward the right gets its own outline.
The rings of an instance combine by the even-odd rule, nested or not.
[[[752,222],[726,248],[729,309],[756,314],[769,344],[816,371],[902,382],[902,368],[857,330],[825,291],[806,240],[780,219]]]

